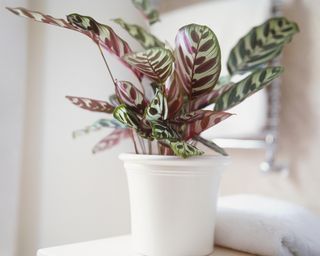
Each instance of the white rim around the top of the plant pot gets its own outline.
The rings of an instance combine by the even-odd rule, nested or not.
[[[227,165],[231,162],[230,156],[222,155],[203,155],[183,159],[178,156],[121,153],[119,159],[125,163],[143,163],[145,165],[163,166],[211,166]]]

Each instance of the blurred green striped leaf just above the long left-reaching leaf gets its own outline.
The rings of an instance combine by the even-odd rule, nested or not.
[[[126,23],[123,19],[114,19],[115,23],[119,24],[125,29],[133,38],[135,38],[143,48],[150,49],[154,47],[165,48],[165,44],[161,42],[157,37],[147,32],[144,28]]]

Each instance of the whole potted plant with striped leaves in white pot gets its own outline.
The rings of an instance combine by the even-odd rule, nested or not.
[[[147,0],[132,2],[150,25],[159,20]],[[148,256],[210,254],[220,175],[228,157],[201,133],[229,118],[232,114],[226,111],[280,76],[283,67],[273,66],[272,60],[298,32],[297,24],[276,17],[252,28],[230,52],[229,75],[220,77],[219,42],[204,25],[182,27],[172,49],[144,28],[114,19],[144,48],[136,52],[110,26],[91,17],[70,14],[65,20],[24,8],[8,9],[80,32],[98,46],[115,94],[106,101],[67,98],[83,109],[114,117],[74,134],[114,128],[93,152],[124,138],[133,141],[135,153],[120,158],[128,177],[135,250]],[[104,51],[117,57],[140,83],[116,79]],[[218,155],[202,156],[198,143]]]

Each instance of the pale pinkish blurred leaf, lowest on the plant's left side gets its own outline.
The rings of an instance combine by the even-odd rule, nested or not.
[[[117,144],[119,144],[119,142],[122,139],[127,139],[130,137],[131,137],[131,130],[130,129],[115,129],[112,133],[107,135],[107,137],[105,137],[104,139],[99,141],[94,146],[92,152],[95,154],[95,153],[104,151],[106,149],[110,149],[110,148],[116,146]]]

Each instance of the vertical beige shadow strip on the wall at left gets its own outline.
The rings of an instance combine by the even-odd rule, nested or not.
[[[33,5],[28,6],[32,8]],[[40,2],[37,8],[45,10],[45,3]],[[14,17],[16,18],[16,17]],[[43,34],[44,26],[28,25],[28,34]],[[20,209],[18,219],[18,236],[16,256],[35,255],[35,248],[39,240],[40,198],[43,163],[43,105],[44,105],[44,77],[43,38],[32,40],[28,37],[28,59],[32,65],[27,67],[26,102],[24,115],[28,116],[24,122],[23,159],[20,180]],[[37,76],[31,76],[35,73]]]

